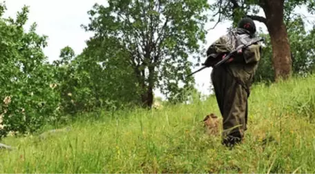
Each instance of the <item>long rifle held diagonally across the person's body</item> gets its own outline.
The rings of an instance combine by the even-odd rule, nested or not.
[[[258,38],[258,39],[254,39],[253,41],[249,41],[249,43],[246,44],[241,44],[240,46],[238,46],[235,50],[232,50],[231,52],[229,52],[229,55],[227,55],[224,59],[218,61],[218,63],[216,63],[213,68],[216,68],[218,66],[220,66],[221,64],[225,63],[225,61],[227,61],[232,55],[234,55],[238,50],[240,49],[244,49],[247,48],[251,45],[253,45],[254,43],[258,43],[259,41],[265,41],[265,38]],[[212,56],[213,57],[214,54],[211,54],[207,57],[207,59]],[[204,64],[202,64],[204,65]],[[187,77],[195,74],[196,72],[199,72],[200,70],[203,70],[204,68],[207,68],[208,66],[203,66],[202,68],[200,68],[199,70],[196,70],[195,72],[192,72],[191,74],[187,75]]]

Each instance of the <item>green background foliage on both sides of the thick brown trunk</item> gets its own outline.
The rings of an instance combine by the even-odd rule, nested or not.
[[[314,72],[315,50],[314,33],[312,30],[305,30],[305,20],[300,15],[294,15],[287,21],[287,32],[289,35],[292,51],[292,71],[294,75],[305,76]],[[262,59],[256,72],[256,81],[274,81],[274,68],[272,66],[272,53],[269,35],[260,33],[266,38],[265,48],[262,49]]]

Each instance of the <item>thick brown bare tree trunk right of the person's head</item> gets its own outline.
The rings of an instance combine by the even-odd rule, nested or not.
[[[263,6],[273,50],[272,64],[274,66],[275,81],[288,79],[292,72],[289,38],[283,21],[283,3],[283,0],[266,0]]]

